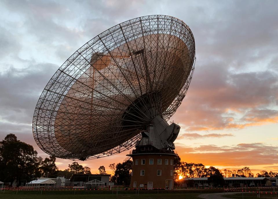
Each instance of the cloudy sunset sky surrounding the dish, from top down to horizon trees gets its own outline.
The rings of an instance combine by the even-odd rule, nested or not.
[[[45,85],[78,48],[118,23],[145,15],[181,19],[193,32],[189,90],[170,119],[184,162],[278,172],[278,1],[0,1],[0,140],[36,145],[32,118]],[[92,173],[128,151],[78,161]],[[59,169],[72,160],[57,158]]]

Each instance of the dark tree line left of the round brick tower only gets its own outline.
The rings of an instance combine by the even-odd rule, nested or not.
[[[56,178],[65,176],[70,179],[73,174],[91,174],[91,169],[83,167],[77,162],[68,165],[65,170],[59,170],[55,164],[54,156],[42,157],[37,156],[37,151],[32,145],[21,142],[14,134],[8,134],[0,142],[0,181],[10,183],[16,182],[17,186],[21,183],[30,182],[36,178]],[[125,163],[115,163],[109,165],[113,172],[110,177],[111,182],[118,185],[129,185],[131,177],[132,161]],[[99,174],[106,174],[105,167],[98,168]]]

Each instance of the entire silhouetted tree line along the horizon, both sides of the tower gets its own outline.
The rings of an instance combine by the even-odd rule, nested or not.
[[[65,170],[59,170],[55,164],[54,156],[46,157],[44,160],[37,156],[37,151],[32,145],[17,140],[14,134],[8,134],[4,140],[0,142],[0,181],[12,183],[16,181],[19,186],[23,182],[30,182],[36,178],[56,178],[57,176],[65,176],[70,179],[73,174],[91,174],[91,169],[87,166],[83,167],[77,162],[68,165]],[[129,186],[131,179],[132,161],[128,160],[124,163],[110,164],[112,171],[110,182],[116,185]],[[107,174],[105,167],[98,168],[99,174]],[[224,169],[223,172],[215,167],[206,168],[201,163],[181,162],[180,157],[174,159],[174,180],[178,182],[179,177],[184,178],[200,178],[200,177],[231,177],[238,174],[242,177],[253,177],[249,167],[244,167],[237,171]],[[278,177],[278,173],[270,171],[261,171],[257,173],[257,177]]]

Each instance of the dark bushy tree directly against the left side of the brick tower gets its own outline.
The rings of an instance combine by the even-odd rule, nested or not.
[[[127,160],[124,163],[118,163],[116,165],[113,181],[117,185],[130,185],[132,161]]]

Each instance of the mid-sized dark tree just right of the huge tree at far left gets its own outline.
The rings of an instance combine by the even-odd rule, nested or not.
[[[54,156],[49,156],[45,158],[41,163],[41,173],[43,177],[46,178],[56,178],[58,173],[58,168],[55,164],[56,158]]]

